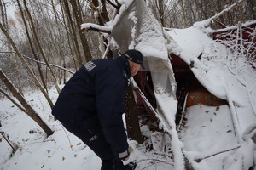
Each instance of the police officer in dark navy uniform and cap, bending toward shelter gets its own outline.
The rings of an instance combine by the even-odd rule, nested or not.
[[[61,90],[52,115],[102,159],[102,170],[132,169],[122,120],[128,79],[143,66],[141,52],[131,49],[117,59],[83,65]]]

